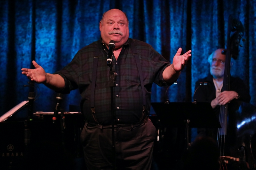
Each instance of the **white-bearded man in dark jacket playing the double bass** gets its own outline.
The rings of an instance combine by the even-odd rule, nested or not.
[[[196,82],[195,90],[200,85],[200,82],[207,82],[208,85],[200,86],[194,95],[194,100],[199,102],[209,102],[219,119],[220,106],[230,103],[229,112],[235,111],[239,107],[238,101],[250,102],[251,96],[249,89],[244,84],[243,80],[238,77],[230,77],[230,91],[223,91],[223,78],[225,71],[226,55],[221,54],[224,49],[215,50],[209,57],[210,74],[199,79]],[[233,63],[231,63],[232,66]],[[230,115],[230,114],[229,114]],[[215,140],[217,138],[217,129],[198,129],[199,136],[211,136]]]

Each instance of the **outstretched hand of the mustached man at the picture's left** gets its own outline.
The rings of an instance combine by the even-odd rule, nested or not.
[[[24,74],[28,77],[29,80],[35,81],[36,83],[45,83],[46,82],[46,72],[43,67],[38,65],[35,61],[32,61],[35,69],[21,69],[21,74]]]

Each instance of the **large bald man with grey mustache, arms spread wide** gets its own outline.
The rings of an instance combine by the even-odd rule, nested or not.
[[[62,70],[49,74],[35,61],[36,69],[21,69],[36,83],[69,93],[79,88],[85,126],[81,134],[88,169],[113,169],[111,96],[108,43],[116,43],[112,58],[117,73],[113,88],[117,169],[150,169],[156,128],[148,119],[151,86],[171,85],[190,58],[191,51],[178,49],[172,64],[150,45],[129,38],[129,21],[124,12],[112,9],[100,20],[99,41],[82,48]],[[96,78],[95,78],[96,77]],[[143,80],[141,82],[141,80]]]

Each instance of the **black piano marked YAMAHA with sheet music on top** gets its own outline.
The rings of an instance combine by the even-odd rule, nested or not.
[[[23,101],[0,117],[0,169],[76,169],[83,162],[81,112],[59,112],[55,123],[53,112],[35,112],[29,122],[15,119],[28,109]]]

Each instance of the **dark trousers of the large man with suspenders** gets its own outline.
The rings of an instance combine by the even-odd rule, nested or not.
[[[156,128],[148,118],[136,124],[115,125],[117,169],[149,170],[155,138]],[[86,123],[81,139],[88,170],[113,169],[111,125]]]

